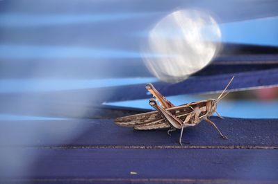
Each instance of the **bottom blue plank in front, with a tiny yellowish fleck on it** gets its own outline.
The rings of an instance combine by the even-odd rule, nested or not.
[[[17,154],[24,152],[24,160],[1,165],[3,181],[275,183],[278,180],[278,151],[274,149],[11,150]]]

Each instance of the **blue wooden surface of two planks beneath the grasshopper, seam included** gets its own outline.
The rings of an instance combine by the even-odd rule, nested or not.
[[[170,137],[166,130],[134,131],[113,120],[1,121],[0,181],[277,181],[277,119],[211,119],[229,140],[201,122],[184,130],[183,147],[179,131]]]

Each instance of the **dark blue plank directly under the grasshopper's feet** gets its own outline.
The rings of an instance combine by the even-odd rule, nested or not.
[[[277,119],[225,118],[211,120],[229,140],[201,122],[183,132],[184,147],[278,149]],[[180,131],[136,131],[113,120],[24,120],[0,122],[1,147],[179,147]]]

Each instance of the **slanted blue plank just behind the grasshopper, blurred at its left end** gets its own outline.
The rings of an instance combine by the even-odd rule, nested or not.
[[[235,75],[235,79],[229,86],[231,90],[244,90],[259,86],[277,86],[278,84],[278,69],[274,68],[264,71],[231,73],[229,75],[196,76],[190,77],[188,80],[178,84],[156,82],[154,86],[166,97],[180,94],[215,93],[224,89],[232,75]],[[145,89],[145,84],[45,93],[1,93],[0,110],[2,113],[79,118],[81,117],[81,111],[82,114],[90,113],[95,109],[92,107],[96,107],[103,102],[151,97]],[[20,104],[18,103],[19,100]],[[76,109],[80,111],[76,111]]]

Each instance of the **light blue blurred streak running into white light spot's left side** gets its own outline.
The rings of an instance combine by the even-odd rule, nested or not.
[[[148,57],[174,57],[159,53],[147,53]],[[90,48],[70,46],[19,46],[0,44],[0,59],[95,59],[141,58],[138,51],[117,48]]]

